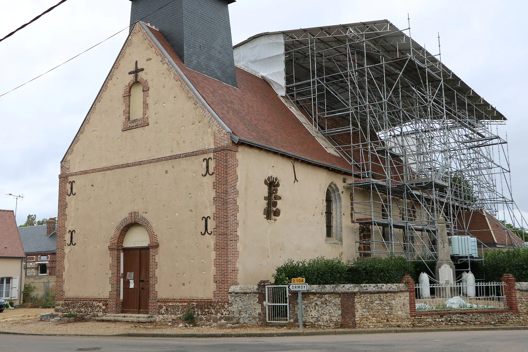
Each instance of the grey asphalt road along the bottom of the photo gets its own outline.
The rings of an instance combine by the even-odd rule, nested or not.
[[[95,349],[97,348],[97,349]],[[528,351],[528,331],[411,332],[266,338],[134,338],[0,335],[0,351]]]

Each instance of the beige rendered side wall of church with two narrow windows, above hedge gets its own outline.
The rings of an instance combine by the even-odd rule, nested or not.
[[[240,211],[239,284],[257,284],[271,280],[275,268],[288,259],[312,259],[319,255],[343,259],[355,258],[355,239],[350,219],[350,188],[343,177],[324,168],[296,161],[299,182],[294,183],[290,158],[241,145],[237,154]],[[268,187],[264,180],[277,177],[280,183],[277,207],[280,216],[266,220],[263,210]],[[325,196],[335,183],[342,199],[342,244],[326,239]],[[330,243],[329,243],[330,242]],[[332,243],[333,242],[333,243]]]

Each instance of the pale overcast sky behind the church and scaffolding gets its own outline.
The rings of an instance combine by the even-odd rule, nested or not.
[[[58,0],[0,0],[0,37]],[[526,1],[238,0],[230,6],[233,43],[261,32],[387,19],[442,61],[507,118],[514,197],[528,211]],[[129,0],[69,0],[0,42],[0,94],[126,28]],[[154,24],[155,25],[155,24]],[[163,30],[163,28],[162,28]],[[23,194],[17,222],[57,214],[60,160],[86,116],[128,32],[0,97],[0,209]]]

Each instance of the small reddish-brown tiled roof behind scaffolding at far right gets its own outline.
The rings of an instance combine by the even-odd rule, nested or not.
[[[506,231],[504,226],[491,214],[484,210],[465,211],[458,216],[458,227],[467,227],[468,233],[476,237],[480,242],[493,245],[512,245],[517,243],[522,245],[523,241],[511,231]]]

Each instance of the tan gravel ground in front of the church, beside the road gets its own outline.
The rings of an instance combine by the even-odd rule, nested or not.
[[[167,323],[130,323],[121,321],[81,321],[81,322],[49,322],[40,321],[39,315],[53,312],[53,308],[16,308],[0,313],[0,331],[32,332],[36,334],[64,335],[117,335],[129,332],[144,332],[156,334],[185,334],[196,332],[263,332],[285,331],[288,328],[267,326],[232,326],[232,327],[186,327],[178,328]],[[293,328],[295,329],[295,328]]]

